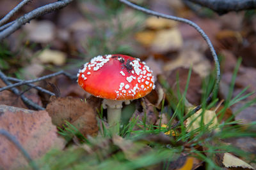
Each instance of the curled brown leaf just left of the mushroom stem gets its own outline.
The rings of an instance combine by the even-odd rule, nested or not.
[[[99,130],[94,110],[79,98],[52,96],[46,110],[54,125],[61,127],[67,120],[85,137],[95,136]]]

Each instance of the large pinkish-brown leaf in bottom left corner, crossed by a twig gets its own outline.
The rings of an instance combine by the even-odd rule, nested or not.
[[[33,111],[0,105],[0,129],[14,135],[32,159],[42,157],[51,148],[62,149],[64,139],[58,138],[47,111]],[[28,166],[26,159],[8,139],[0,138],[0,169]]]

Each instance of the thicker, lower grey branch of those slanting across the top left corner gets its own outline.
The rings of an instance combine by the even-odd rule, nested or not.
[[[0,32],[0,41],[6,36],[9,36],[12,34],[14,31],[19,29],[22,25],[26,24],[30,20],[33,20],[33,18],[40,17],[41,15],[44,15],[46,13],[50,13],[52,11],[60,10],[61,8],[64,8],[67,6],[69,3],[71,3],[73,0],[61,0],[57,1],[55,3],[47,4],[45,6],[41,6],[39,8],[36,8],[35,10],[26,13],[24,16],[18,18],[11,24],[9,27],[4,29],[3,31]]]

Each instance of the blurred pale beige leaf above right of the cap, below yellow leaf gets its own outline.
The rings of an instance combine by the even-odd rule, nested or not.
[[[156,32],[151,48],[156,53],[175,52],[182,47],[183,40],[179,29],[167,29]]]

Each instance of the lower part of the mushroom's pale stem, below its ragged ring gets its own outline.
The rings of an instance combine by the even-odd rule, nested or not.
[[[112,108],[108,106],[108,124],[112,134],[119,131],[122,108]]]

